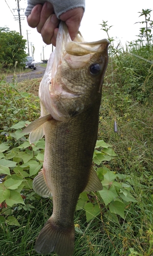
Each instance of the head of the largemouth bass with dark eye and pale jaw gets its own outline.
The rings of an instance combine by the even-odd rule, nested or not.
[[[66,25],[60,23],[57,47],[39,90],[40,100],[54,119],[67,121],[101,99],[108,45],[107,39],[86,42],[80,32],[71,41]]]

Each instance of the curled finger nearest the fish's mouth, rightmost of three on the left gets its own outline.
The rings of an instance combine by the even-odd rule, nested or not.
[[[41,36],[46,45],[53,44],[56,46],[56,37],[60,20],[55,14],[49,16],[46,20],[42,30]]]

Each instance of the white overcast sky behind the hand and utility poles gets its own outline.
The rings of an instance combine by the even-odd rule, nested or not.
[[[20,15],[24,18],[21,20],[22,36],[30,42],[35,47],[34,59],[35,61],[40,61],[42,55],[42,49],[44,47],[44,58],[48,59],[50,53],[52,52],[52,46],[46,46],[42,41],[41,35],[36,29],[32,29],[27,24],[27,19],[24,16],[24,11],[27,6],[27,0],[20,0]],[[17,1],[15,0],[1,0],[0,9],[0,27],[8,27],[10,30],[16,30],[19,32],[19,23],[15,20],[18,15]],[[23,10],[22,10],[23,9]],[[142,27],[140,24],[135,24],[140,22],[142,18],[139,18],[139,13],[142,9],[153,10],[152,0],[86,0],[86,10],[84,17],[81,22],[80,31],[87,41],[96,41],[103,38],[107,38],[105,31],[100,30],[101,26],[99,24],[108,21],[109,26],[113,26],[109,31],[109,36],[114,37],[116,40],[120,40],[124,45],[126,41],[135,40],[136,35],[139,34],[139,28]],[[151,19],[153,20],[153,11],[151,12]],[[28,50],[27,50],[28,53]],[[31,55],[31,54],[30,54]]]

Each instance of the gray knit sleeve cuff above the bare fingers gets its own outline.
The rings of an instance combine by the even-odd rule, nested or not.
[[[55,14],[59,16],[70,9],[82,7],[85,10],[85,0],[47,0],[54,6]],[[33,7],[37,4],[44,4],[46,0],[28,0],[28,7],[25,10],[25,16],[29,16]]]

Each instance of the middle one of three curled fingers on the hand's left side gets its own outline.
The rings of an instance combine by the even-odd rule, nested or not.
[[[39,24],[37,25],[37,31],[41,33],[41,30],[46,22],[46,20],[49,18],[50,15],[54,14],[54,8],[53,5],[50,4],[49,2],[45,2],[41,14],[40,14],[40,21]]]

